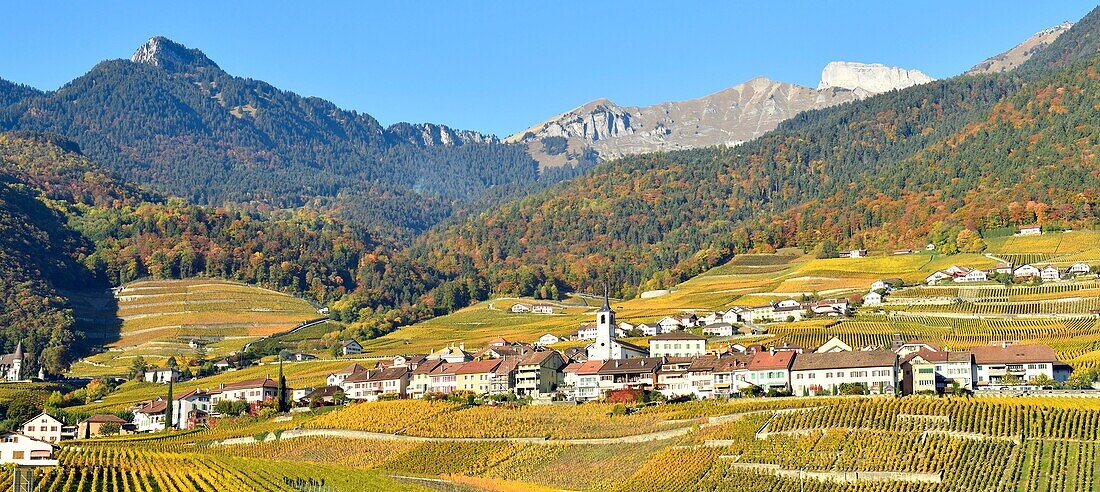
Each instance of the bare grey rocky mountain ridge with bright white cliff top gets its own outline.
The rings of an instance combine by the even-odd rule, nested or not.
[[[527,143],[528,152],[542,166],[579,162],[585,150],[610,160],[653,151],[734,146],[774,130],[802,111],[931,80],[919,70],[835,62],[823,70],[817,89],[757,77],[698,99],[647,107],[597,99],[505,142]]]

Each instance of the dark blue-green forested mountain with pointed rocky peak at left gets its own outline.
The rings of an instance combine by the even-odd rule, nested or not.
[[[164,37],[56,91],[6,101],[0,129],[64,135],[160,193],[208,205],[328,204],[406,236],[494,186],[540,179],[519,145],[439,124],[384,128],[370,114],[232,76]]]

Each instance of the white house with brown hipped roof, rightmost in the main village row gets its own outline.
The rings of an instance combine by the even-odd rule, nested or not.
[[[1010,374],[1021,382],[1046,376],[1065,381],[1055,371],[1058,358],[1054,350],[1042,345],[1008,345],[971,347],[975,367],[975,386],[997,386]]]

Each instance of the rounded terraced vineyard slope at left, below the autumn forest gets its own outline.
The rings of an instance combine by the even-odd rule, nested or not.
[[[208,357],[220,357],[318,317],[297,297],[210,278],[134,282],[98,306],[82,306],[89,309],[82,325],[107,350],[74,364],[74,375],[124,375],[139,356],[160,365],[194,354],[193,339],[206,342]]]

